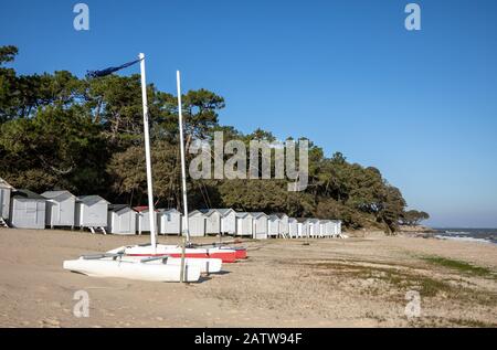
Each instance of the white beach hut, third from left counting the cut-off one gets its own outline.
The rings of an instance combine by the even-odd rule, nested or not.
[[[45,225],[74,229],[76,197],[68,191],[46,191],[41,195],[46,199]]]

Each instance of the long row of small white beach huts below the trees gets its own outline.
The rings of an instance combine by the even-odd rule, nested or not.
[[[99,195],[75,197],[68,191],[41,194],[14,190],[0,179],[0,224],[18,229],[80,227],[92,232],[141,234],[150,231],[147,206],[110,204]],[[176,209],[156,210],[157,232],[180,235],[183,215]],[[296,219],[283,213],[236,212],[232,209],[195,210],[189,214],[191,236],[228,234],[268,237],[341,236],[339,220]]]

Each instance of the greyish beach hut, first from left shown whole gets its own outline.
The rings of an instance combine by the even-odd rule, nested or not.
[[[45,198],[29,190],[13,191],[10,223],[17,229],[45,229]]]

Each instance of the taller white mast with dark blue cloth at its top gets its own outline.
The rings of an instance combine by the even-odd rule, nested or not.
[[[154,184],[151,176],[151,160],[150,160],[150,135],[148,126],[148,103],[147,103],[147,81],[145,77],[145,54],[140,53],[140,71],[141,71],[141,99],[144,103],[144,131],[145,131],[145,161],[147,163],[147,192],[148,192],[148,212],[150,220],[150,244],[154,254],[157,253],[156,244],[156,210],[154,208]]]

